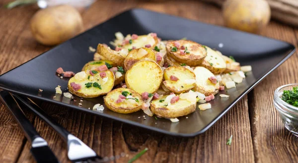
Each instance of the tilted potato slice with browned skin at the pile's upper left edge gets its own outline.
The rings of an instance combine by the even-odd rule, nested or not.
[[[108,61],[112,61],[117,65],[123,66],[123,61],[128,54],[125,49],[121,51],[112,50],[110,47],[106,47],[102,44],[98,44],[97,46],[97,53]]]

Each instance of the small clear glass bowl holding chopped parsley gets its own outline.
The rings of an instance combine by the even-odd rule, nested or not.
[[[298,83],[278,87],[274,91],[274,107],[279,113],[285,127],[298,137],[298,107],[288,104],[281,99],[284,90],[293,90]]]

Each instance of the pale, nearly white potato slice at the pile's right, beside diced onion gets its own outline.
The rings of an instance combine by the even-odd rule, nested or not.
[[[194,69],[196,75],[196,86],[194,87],[195,91],[201,92],[208,96],[209,94],[216,94],[220,89],[220,82],[216,84],[208,80],[210,77],[215,77],[211,71],[204,67],[196,67]]]

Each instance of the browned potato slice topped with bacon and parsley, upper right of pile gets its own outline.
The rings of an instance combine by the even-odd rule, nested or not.
[[[175,46],[175,42],[185,47],[185,54],[180,54],[180,47]],[[207,51],[201,44],[190,40],[169,41],[166,44],[167,55],[178,62],[188,66],[198,66],[207,55]]]

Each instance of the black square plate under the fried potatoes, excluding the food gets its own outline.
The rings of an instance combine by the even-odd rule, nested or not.
[[[252,72],[249,72],[247,78],[236,88],[222,92],[230,95],[229,98],[223,100],[216,95],[215,100],[211,101],[212,109],[205,111],[197,109],[187,115],[188,118],[180,117],[180,121],[176,123],[167,119],[156,120],[154,116],[147,115],[146,120],[138,118],[145,115],[143,111],[132,114],[119,114],[107,108],[102,112],[93,111],[94,104],[103,104],[102,96],[84,99],[83,102],[80,102],[78,97],[75,97],[74,101],[59,94],[53,98],[55,87],[61,85],[62,90],[65,90],[68,83],[67,79],[60,79],[55,74],[56,69],[63,67],[67,71],[79,72],[85,63],[93,59],[93,53],[88,52],[88,47],[97,47],[98,43],[109,43],[114,39],[114,33],[118,31],[124,35],[155,32],[163,40],[187,37],[189,40],[217,48],[224,55],[234,56],[241,65],[251,65]],[[188,137],[201,134],[210,128],[294,52],[295,47],[286,42],[148,10],[132,9],[1,75],[0,88],[161,133]],[[43,89],[42,93],[39,93],[39,88]],[[78,103],[82,103],[82,106]]]

